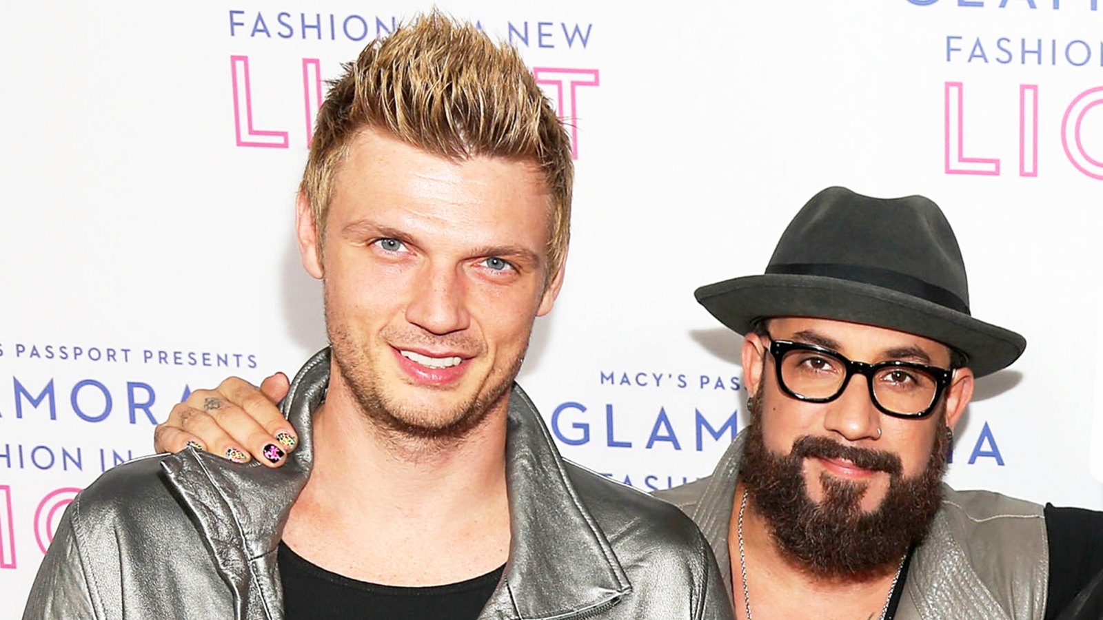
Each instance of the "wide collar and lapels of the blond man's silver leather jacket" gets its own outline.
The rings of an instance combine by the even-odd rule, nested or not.
[[[276,550],[291,504],[310,477],[311,415],[325,399],[329,373],[325,349],[299,371],[280,404],[299,435],[299,447],[283,467],[235,464],[193,449],[163,459],[170,485],[234,590],[236,618],[283,618]],[[566,619],[612,605],[631,591],[547,427],[516,384],[508,406],[505,475],[510,559],[481,619]]]

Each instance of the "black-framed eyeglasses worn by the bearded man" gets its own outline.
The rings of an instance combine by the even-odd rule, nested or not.
[[[771,339],[770,354],[778,385],[797,400],[831,403],[843,394],[850,377],[859,374],[868,380],[874,406],[901,418],[930,414],[954,376],[946,368],[900,360],[852,362],[831,349],[789,340]]]

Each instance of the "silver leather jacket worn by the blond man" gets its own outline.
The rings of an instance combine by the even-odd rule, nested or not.
[[[301,443],[280,469],[188,449],[119,466],[79,493],[23,619],[283,618],[277,548],[310,475],[310,416],[325,397],[329,370],[325,350],[281,405]],[[732,618],[693,522],[565,462],[516,386],[506,462],[510,558],[480,618]]]

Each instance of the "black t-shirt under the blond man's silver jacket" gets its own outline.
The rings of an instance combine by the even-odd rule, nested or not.
[[[287,620],[474,620],[490,600],[504,566],[445,586],[381,586],[330,573],[279,545]]]

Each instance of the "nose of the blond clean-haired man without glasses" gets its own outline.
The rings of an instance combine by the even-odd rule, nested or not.
[[[452,265],[421,266],[414,277],[406,320],[421,329],[446,334],[464,330],[471,317],[461,271]]]

